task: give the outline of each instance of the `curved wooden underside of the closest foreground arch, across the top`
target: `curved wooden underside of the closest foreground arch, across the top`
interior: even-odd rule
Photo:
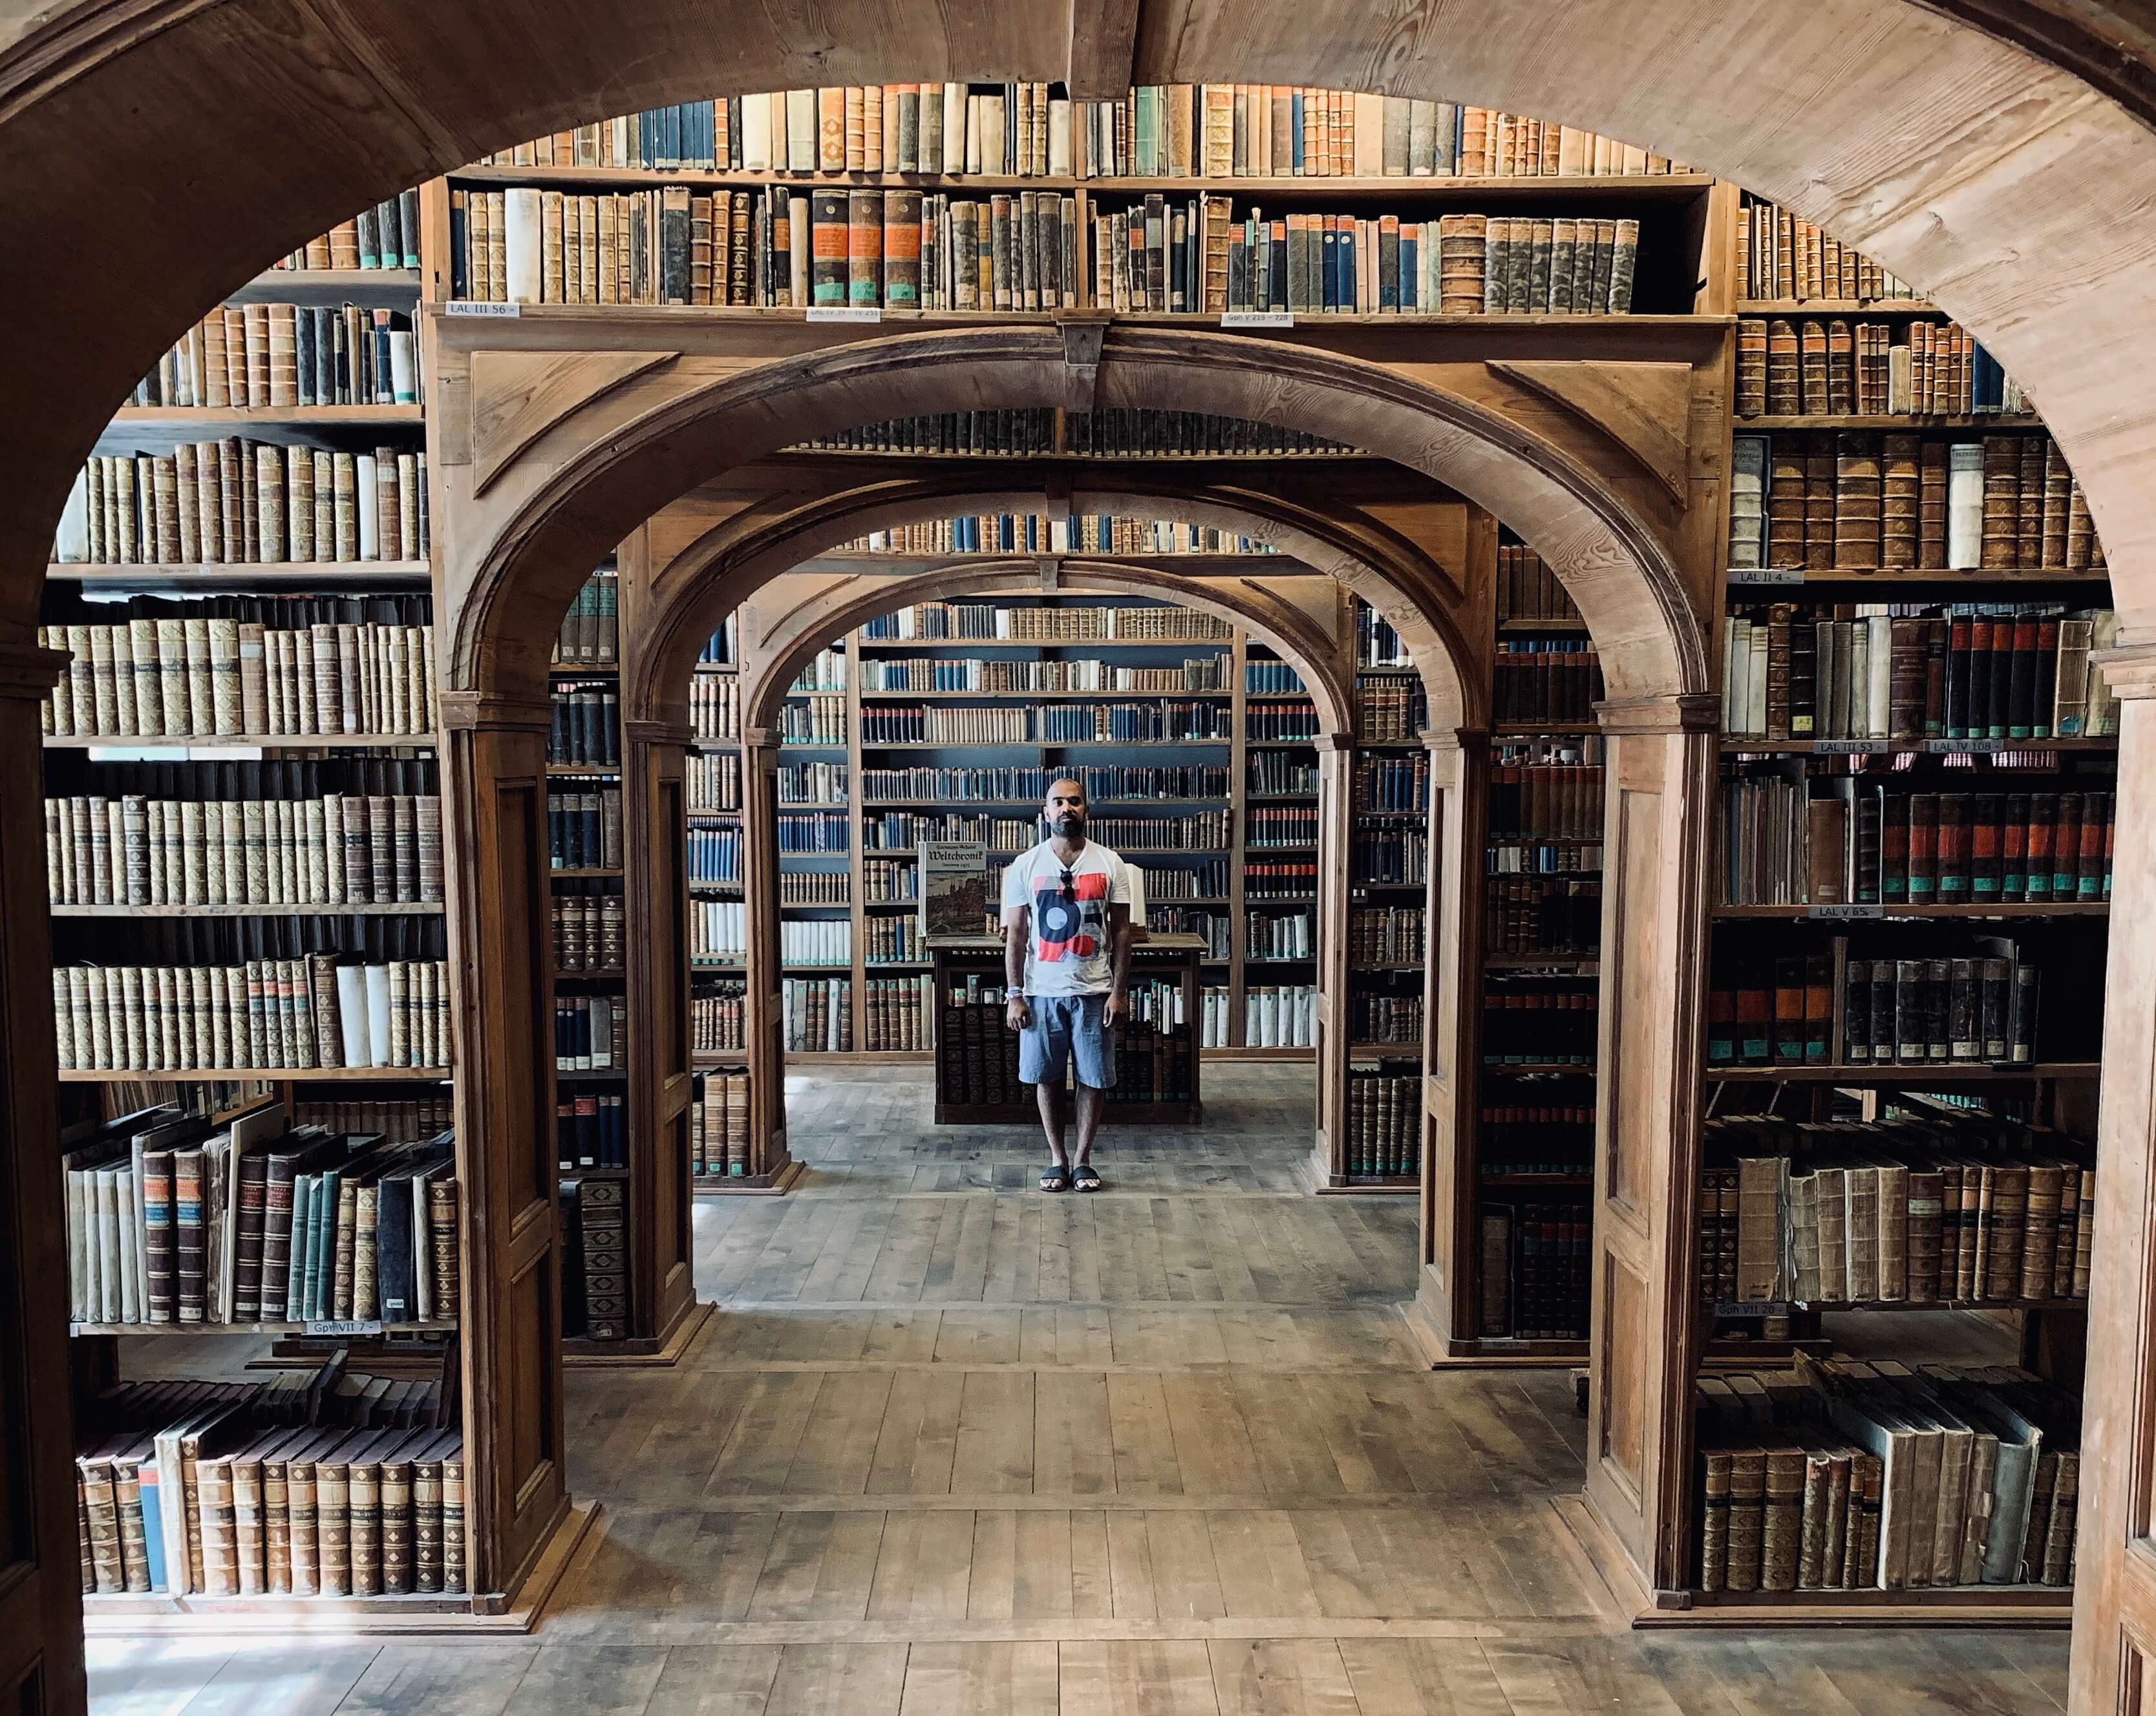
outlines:
[[[65,487],[134,377],[354,207],[711,91],[1031,75],[1485,101],[1787,203],[2014,371],[2089,492],[2139,632],[2156,621],[2147,47],[2143,4],[2093,0],[32,0],[0,22],[0,604],[28,621]]]

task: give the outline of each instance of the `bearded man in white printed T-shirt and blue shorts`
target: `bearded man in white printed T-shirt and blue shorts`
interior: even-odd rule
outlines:
[[[1130,1011],[1130,867],[1084,836],[1084,785],[1048,783],[1052,830],[1003,873],[1005,1022],[1024,1033],[1018,1076],[1037,1091],[1048,1134],[1044,1192],[1100,1190],[1093,1134],[1115,1084],[1115,1028]],[[1063,1067],[1078,1063],[1078,1145],[1063,1151]]]

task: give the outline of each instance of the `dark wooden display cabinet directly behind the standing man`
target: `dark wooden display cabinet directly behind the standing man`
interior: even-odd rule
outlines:
[[[1033,1089],[1018,1082],[1018,1033],[1003,1022],[1003,938],[929,936],[936,959],[936,1123],[1024,1125],[1039,1115]],[[1197,1125],[1199,959],[1203,936],[1138,931],[1130,953],[1132,987],[1169,979],[1181,990],[1179,1026],[1125,1024],[1117,1039],[1117,1084],[1106,1121],[1117,1125]],[[994,1000],[953,1000],[972,983]]]

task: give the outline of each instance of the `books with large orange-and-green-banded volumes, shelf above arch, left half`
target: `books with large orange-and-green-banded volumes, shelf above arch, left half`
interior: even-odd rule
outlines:
[[[1076,308],[1078,205],[903,185],[453,190],[451,287],[496,304]]]

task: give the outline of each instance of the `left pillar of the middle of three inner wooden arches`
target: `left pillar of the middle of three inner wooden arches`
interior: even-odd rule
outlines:
[[[664,1341],[696,1302],[690,1242],[686,722],[621,722],[630,1000],[630,1332]]]

